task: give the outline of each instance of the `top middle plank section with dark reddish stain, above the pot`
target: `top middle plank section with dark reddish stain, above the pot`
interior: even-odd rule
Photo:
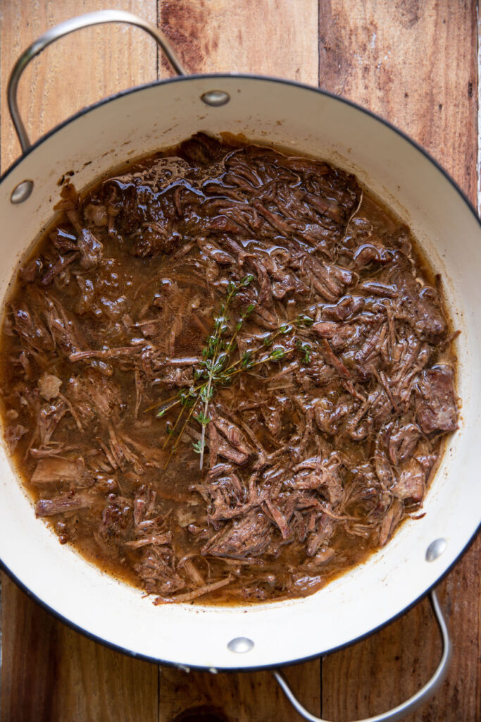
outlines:
[[[190,72],[256,73],[317,85],[317,0],[159,0],[159,27]]]

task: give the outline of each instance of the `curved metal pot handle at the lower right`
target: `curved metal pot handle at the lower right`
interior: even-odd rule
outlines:
[[[394,720],[402,719],[408,712],[412,712],[412,710],[425,702],[428,697],[431,697],[431,695],[433,695],[433,693],[438,689],[441,682],[443,682],[444,677],[446,677],[446,672],[449,667],[449,659],[451,658],[451,640],[449,639],[446,620],[443,617],[443,613],[441,612],[441,607],[439,606],[438,598],[434,590],[431,591],[430,599],[433,606],[433,612],[436,615],[439,629],[441,630],[441,636],[443,638],[443,654],[433,677],[431,677],[429,682],[427,682],[424,687],[421,687],[415,695],[412,695],[409,700],[406,700],[402,704],[397,705],[397,707],[394,707],[392,710],[384,712],[381,715],[369,717],[364,720],[358,720],[358,722],[387,722],[388,720],[389,722],[394,722]],[[312,715],[301,705],[301,703],[299,703],[280,672],[273,671],[272,674],[275,679],[277,679],[278,684],[281,686],[282,691],[288,698],[291,705],[301,715],[301,717],[304,717],[304,719],[309,722],[327,722],[327,720]]]

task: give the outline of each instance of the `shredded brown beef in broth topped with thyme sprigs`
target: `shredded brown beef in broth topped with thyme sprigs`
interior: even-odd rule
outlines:
[[[243,603],[316,591],[419,513],[454,334],[353,175],[198,134],[58,209],[7,300],[1,405],[62,544],[159,603]]]

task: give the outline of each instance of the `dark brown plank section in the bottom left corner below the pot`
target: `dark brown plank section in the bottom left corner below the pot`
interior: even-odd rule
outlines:
[[[1,719],[156,722],[157,668],[58,622],[2,575]]]

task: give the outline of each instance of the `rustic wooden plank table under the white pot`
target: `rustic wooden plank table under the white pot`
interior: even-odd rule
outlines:
[[[48,27],[102,6],[158,22],[190,71],[277,75],[356,100],[423,144],[476,202],[475,0],[1,0],[2,170],[19,155],[4,101],[14,60]],[[140,30],[83,30],[35,60],[19,105],[35,139],[83,105],[168,73]],[[454,656],[411,722],[481,720],[480,559],[478,536],[440,585]],[[1,638],[4,722],[170,722],[198,706],[229,722],[300,719],[268,673],[186,674],[122,656],[57,622],[5,576]],[[353,720],[415,692],[439,653],[423,601],[378,635],[286,677],[313,713]]]

